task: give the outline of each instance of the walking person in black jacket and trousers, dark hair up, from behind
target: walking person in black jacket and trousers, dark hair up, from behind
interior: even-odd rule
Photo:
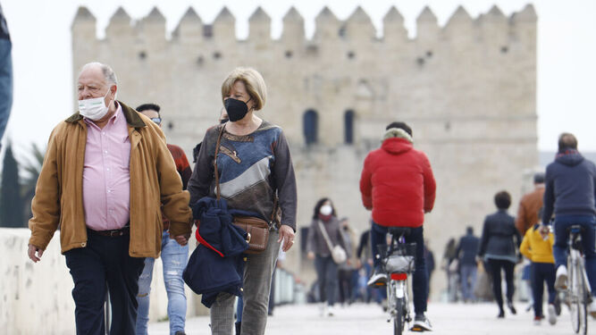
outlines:
[[[517,249],[521,244],[516,220],[507,213],[511,205],[511,196],[507,191],[500,191],[494,197],[498,211],[484,219],[483,238],[480,242],[478,256],[483,257],[492,273],[492,293],[499,305],[499,318],[505,317],[503,310],[503,296],[500,289],[500,272],[505,271],[507,281],[507,306],[511,314],[516,314],[513,306],[513,270],[517,262]]]

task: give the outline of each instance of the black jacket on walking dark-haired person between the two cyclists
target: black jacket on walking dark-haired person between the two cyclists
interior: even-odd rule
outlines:
[[[515,262],[516,250],[521,241],[514,217],[505,210],[499,210],[484,219],[483,238],[478,255]]]

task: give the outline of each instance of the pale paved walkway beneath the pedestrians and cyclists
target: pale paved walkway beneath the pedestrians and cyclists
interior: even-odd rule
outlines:
[[[517,309],[525,304],[518,303]],[[433,334],[441,335],[564,335],[573,334],[567,307],[551,326],[543,320],[540,326],[533,324],[533,312],[518,311],[516,315],[496,318],[497,307],[492,304],[430,304],[429,317],[434,327]],[[588,333],[596,334],[596,321],[590,319]],[[209,334],[209,317],[195,317],[187,321],[187,334]],[[357,304],[337,308],[336,316],[322,318],[314,305],[280,306],[267,322],[267,334],[279,335],[351,335],[392,334],[391,323],[386,320],[382,309],[375,305]],[[408,334],[415,334],[407,331]],[[149,325],[149,334],[168,334],[168,323]]]

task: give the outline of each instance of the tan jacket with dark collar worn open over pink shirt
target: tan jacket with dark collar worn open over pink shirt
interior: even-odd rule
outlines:
[[[157,257],[162,246],[160,204],[170,219],[172,236],[190,232],[189,192],[162,130],[145,115],[122,104],[130,138],[130,246],[133,257]],[[60,226],[62,253],[87,246],[83,209],[83,163],[87,124],[79,113],[58,124],[50,135],[46,157],[31,203],[29,244],[46,249]]]

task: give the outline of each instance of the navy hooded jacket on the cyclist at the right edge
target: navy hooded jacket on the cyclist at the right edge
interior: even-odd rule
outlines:
[[[596,166],[577,150],[559,153],[546,168],[544,212],[542,222],[548,224],[556,215],[594,215]]]

